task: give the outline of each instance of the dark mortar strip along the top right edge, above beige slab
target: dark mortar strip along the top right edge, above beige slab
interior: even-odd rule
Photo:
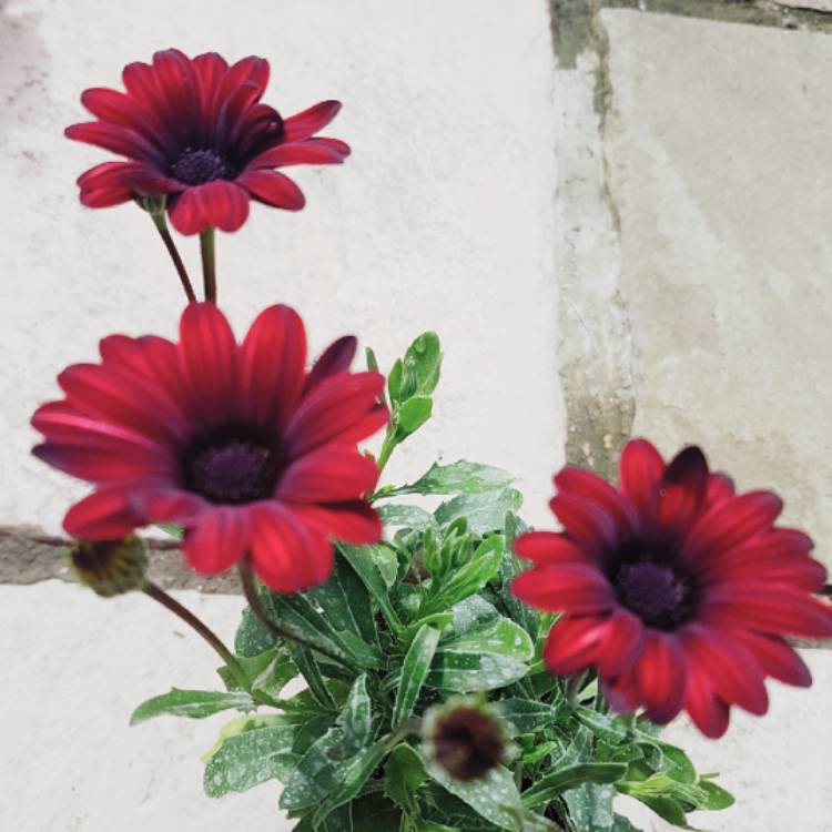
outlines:
[[[750,23],[777,29],[832,32],[832,11],[775,0],[599,0],[605,9],[702,18],[722,23]]]

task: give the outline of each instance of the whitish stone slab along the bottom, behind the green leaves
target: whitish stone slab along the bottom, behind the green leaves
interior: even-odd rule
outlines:
[[[176,597],[226,640],[242,600],[184,590]],[[130,728],[133,708],[173,684],[214,687],[213,653],[166,610],[141,595],[100,600],[60,581],[0,586],[0,829],[14,832],[221,832],[290,830],[277,812],[277,784],[210,800],[200,755],[223,714],[203,721],[160,718]],[[694,825],[713,832],[801,832],[832,829],[825,804],[829,767],[811,749],[829,748],[826,691],[832,652],[803,652],[810,691],[771,684],[770,713],[735,713],[719,742],[683,722],[667,731],[700,771],[720,771],[738,804],[704,813]],[[646,832],[668,832],[631,801],[621,809]],[[379,832],[388,832],[379,830]]]

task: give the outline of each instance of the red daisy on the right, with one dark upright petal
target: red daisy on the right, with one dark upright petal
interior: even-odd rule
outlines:
[[[783,637],[832,636],[832,610],[811,597],[826,572],[809,537],[774,526],[780,498],[734,494],[696,447],[666,466],[643,439],[627,444],[620,478],[618,490],[564,468],[550,503],[564,531],[515,542],[535,566],[514,593],[564,613],[549,670],[595,667],[616,710],[663,723],[684,709],[708,737],[726,731],[732,704],[767,711],[767,676],[811,684]]]

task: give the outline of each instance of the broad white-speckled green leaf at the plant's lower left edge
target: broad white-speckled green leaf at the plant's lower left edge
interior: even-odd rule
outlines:
[[[243,792],[276,778],[285,780],[298,762],[292,753],[293,726],[257,728],[229,737],[205,767],[209,798]]]

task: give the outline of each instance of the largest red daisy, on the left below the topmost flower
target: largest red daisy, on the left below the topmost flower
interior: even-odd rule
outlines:
[[[352,336],[310,372],[306,335],[287,306],[265,310],[237,345],[213,304],[191,304],[177,344],[112,335],[101,364],[58,377],[61,402],[32,419],[35,456],[95,486],[64,528],[91,540],[151,522],[185,527],[183,550],[200,572],[251,554],[272,589],[322,584],[329,538],[378,540],[363,496],[378,478],[356,447],[387,422],[384,379],[349,373]]]

